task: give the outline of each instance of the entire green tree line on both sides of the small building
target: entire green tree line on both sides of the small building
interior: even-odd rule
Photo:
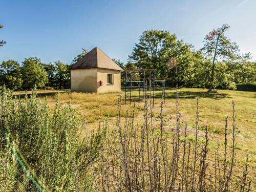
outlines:
[[[167,86],[235,90],[237,83],[256,81],[256,62],[250,61],[250,54],[242,54],[236,42],[225,36],[228,29],[228,25],[223,25],[209,32],[199,50],[169,31],[145,30],[126,63],[113,60],[125,70],[156,69],[156,77],[165,77]],[[37,57],[25,58],[21,65],[12,59],[3,61],[0,86],[29,90],[36,84],[38,88],[69,89],[69,69],[87,53],[82,49],[70,64],[42,63]],[[134,77],[142,78],[142,74]],[[124,79],[123,73],[122,83]]]

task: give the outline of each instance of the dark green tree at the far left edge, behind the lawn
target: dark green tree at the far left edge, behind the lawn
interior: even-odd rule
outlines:
[[[0,65],[0,86],[5,84],[6,88],[15,91],[22,88],[22,82],[19,63],[11,59],[3,61]]]

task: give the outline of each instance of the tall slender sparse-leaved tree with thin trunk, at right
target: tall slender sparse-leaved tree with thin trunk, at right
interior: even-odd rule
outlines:
[[[220,79],[216,76],[216,63],[219,61],[233,62],[242,57],[242,55],[239,54],[238,45],[235,42],[231,42],[224,34],[229,28],[230,27],[225,24],[222,25],[221,28],[212,30],[205,36],[202,51],[205,57],[211,60],[210,77],[207,82],[209,91],[220,86]]]

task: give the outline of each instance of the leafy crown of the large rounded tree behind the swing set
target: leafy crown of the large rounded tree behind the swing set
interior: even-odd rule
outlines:
[[[179,58],[189,51],[190,46],[182,40],[177,40],[175,34],[163,30],[146,30],[135,44],[130,61],[135,63],[138,69],[156,69],[158,77],[168,76],[170,67],[167,65],[170,58]]]

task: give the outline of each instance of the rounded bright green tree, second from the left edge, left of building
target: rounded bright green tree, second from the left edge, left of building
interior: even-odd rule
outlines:
[[[25,58],[22,67],[23,89],[29,90],[35,85],[38,88],[45,87],[48,82],[46,70],[37,57]]]

